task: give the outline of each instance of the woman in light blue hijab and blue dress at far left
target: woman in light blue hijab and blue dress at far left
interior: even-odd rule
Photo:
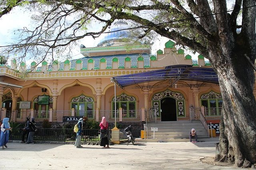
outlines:
[[[9,124],[9,118],[4,118],[1,125],[1,135],[0,135],[0,146],[4,149],[4,146],[7,148],[7,143],[9,141],[9,131],[12,129]]]

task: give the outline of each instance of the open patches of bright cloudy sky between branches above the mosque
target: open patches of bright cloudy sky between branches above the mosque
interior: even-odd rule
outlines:
[[[17,35],[14,34],[14,30],[16,29],[22,29],[23,27],[29,27],[30,25],[30,17],[31,13],[19,9],[17,7],[16,9],[12,10],[9,14],[6,14],[0,18],[0,46],[10,45],[10,43],[14,43],[17,39]],[[92,27],[89,27],[90,29],[95,29],[95,25]],[[104,37],[102,35],[101,37]],[[72,51],[72,59],[79,59],[84,57],[82,54],[80,54],[80,44],[83,44],[85,47],[96,47],[96,45],[100,42],[100,37],[93,39],[91,36],[87,36],[84,39],[81,39],[78,42],[78,46],[75,47]],[[155,43],[152,45],[152,54],[156,55],[156,51],[158,49],[164,50],[164,44],[168,41],[166,37],[158,37],[158,40],[155,41]],[[198,54],[193,55],[191,53],[188,53],[192,56],[192,59],[197,59]],[[185,51],[186,55],[186,51]],[[27,65],[30,65],[33,61],[26,61]],[[10,65],[10,60],[8,61],[8,64]]]

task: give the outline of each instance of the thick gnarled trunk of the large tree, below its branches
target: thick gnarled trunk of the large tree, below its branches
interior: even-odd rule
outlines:
[[[246,168],[256,163],[256,102],[254,70],[242,54],[234,52],[230,63],[213,63],[223,98],[220,154],[215,160]]]

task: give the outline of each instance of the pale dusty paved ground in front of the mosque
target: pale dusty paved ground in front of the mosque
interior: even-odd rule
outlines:
[[[136,143],[111,145],[22,144],[8,143],[0,149],[1,170],[170,170],[235,169],[202,163],[214,157],[214,142]],[[239,168],[241,169],[241,168]]]

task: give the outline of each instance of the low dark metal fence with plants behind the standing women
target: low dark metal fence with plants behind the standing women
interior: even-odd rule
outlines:
[[[111,132],[109,133],[110,140]],[[13,128],[10,131],[10,140],[22,139],[22,128]],[[38,128],[34,135],[35,141],[75,141],[76,133],[73,129],[46,129]],[[83,129],[82,141],[100,141],[99,129]]]

